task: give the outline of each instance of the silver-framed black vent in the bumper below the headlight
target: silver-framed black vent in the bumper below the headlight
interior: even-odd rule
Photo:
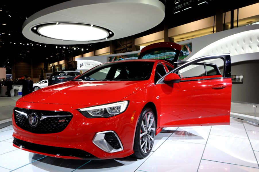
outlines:
[[[93,139],[94,145],[105,152],[113,153],[123,150],[118,135],[114,131],[103,131],[96,133]]]

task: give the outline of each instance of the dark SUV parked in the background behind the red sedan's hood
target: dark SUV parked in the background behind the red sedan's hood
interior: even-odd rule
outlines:
[[[49,77],[49,86],[61,82],[71,81],[80,75],[79,71],[56,71]]]

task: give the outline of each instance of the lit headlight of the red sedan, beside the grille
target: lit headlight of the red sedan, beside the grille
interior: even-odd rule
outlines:
[[[122,101],[89,108],[78,109],[87,118],[109,118],[121,114],[127,109],[129,101]]]

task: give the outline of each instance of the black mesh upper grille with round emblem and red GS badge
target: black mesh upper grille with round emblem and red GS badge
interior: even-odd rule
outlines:
[[[58,133],[63,131],[73,115],[70,112],[32,110],[24,108],[13,109],[17,126],[37,134]]]

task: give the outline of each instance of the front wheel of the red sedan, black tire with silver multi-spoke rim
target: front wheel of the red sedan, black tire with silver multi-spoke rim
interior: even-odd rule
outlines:
[[[156,134],[156,119],[151,108],[144,108],[138,118],[136,134],[134,139],[134,154],[138,159],[149,155],[154,145]]]

